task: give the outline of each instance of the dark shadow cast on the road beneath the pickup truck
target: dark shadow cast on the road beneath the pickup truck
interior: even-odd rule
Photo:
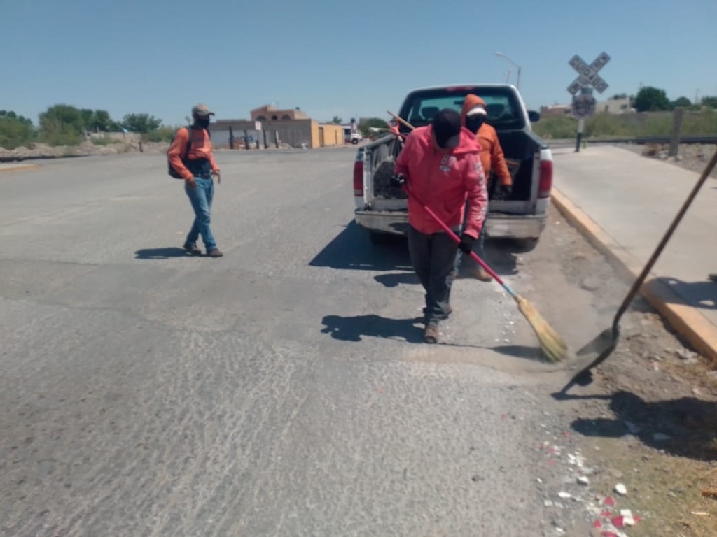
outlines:
[[[485,262],[500,276],[518,274],[519,254],[524,251],[518,241],[489,239],[485,241]],[[396,287],[399,284],[418,284],[404,237],[391,237],[384,244],[374,244],[368,233],[349,222],[333,240],[309,262],[309,266],[330,267],[354,271],[404,271],[403,274],[374,276],[379,284]],[[460,277],[467,277],[472,259],[461,262]]]

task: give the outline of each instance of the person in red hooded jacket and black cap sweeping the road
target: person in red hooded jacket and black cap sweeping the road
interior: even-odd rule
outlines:
[[[407,136],[394,167],[394,184],[407,185],[417,198],[408,200],[408,246],[426,291],[427,343],[438,341],[438,324],[452,311],[450,288],[457,250],[470,253],[483,227],[488,193],[478,152],[478,142],[461,126],[460,114],[445,109],[435,115],[431,125],[417,127]],[[456,233],[461,233],[465,216],[460,244],[443,231],[423,204]]]

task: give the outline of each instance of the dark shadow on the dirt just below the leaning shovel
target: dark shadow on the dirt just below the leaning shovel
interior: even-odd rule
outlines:
[[[631,392],[612,396],[566,396],[609,399],[614,418],[574,420],[571,428],[589,437],[633,435],[655,450],[694,460],[717,458],[717,402],[695,397],[647,402]]]

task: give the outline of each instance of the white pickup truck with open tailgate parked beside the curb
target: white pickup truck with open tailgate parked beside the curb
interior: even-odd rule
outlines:
[[[489,178],[490,199],[485,233],[489,238],[514,238],[526,249],[538,242],[546,225],[546,210],[553,183],[553,157],[531,122],[538,112],[528,112],[516,87],[510,84],[460,84],[427,87],[409,92],[398,115],[414,127],[429,125],[443,108],[460,112],[468,94],[481,97],[488,110],[488,123],[498,132],[505,160],[513,176],[509,199],[494,198],[495,178]],[[399,123],[399,131],[409,128]],[[354,218],[369,232],[371,241],[383,243],[391,235],[404,235],[408,229],[405,193],[391,187],[392,160],[401,150],[394,135],[381,137],[356,152],[353,165]]]

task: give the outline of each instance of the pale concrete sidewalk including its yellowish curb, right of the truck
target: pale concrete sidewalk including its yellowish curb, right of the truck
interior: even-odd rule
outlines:
[[[613,146],[580,153],[556,148],[554,158],[553,203],[630,281],[700,176]],[[678,334],[717,364],[717,283],[708,279],[717,273],[715,233],[717,180],[708,178],[641,292]]]

